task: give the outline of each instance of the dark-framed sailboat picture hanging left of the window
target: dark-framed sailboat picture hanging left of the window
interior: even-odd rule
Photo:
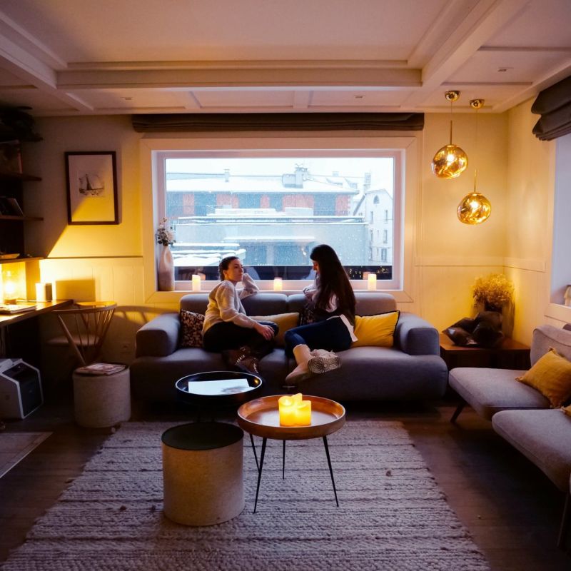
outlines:
[[[66,153],[69,224],[118,224],[115,151]]]

